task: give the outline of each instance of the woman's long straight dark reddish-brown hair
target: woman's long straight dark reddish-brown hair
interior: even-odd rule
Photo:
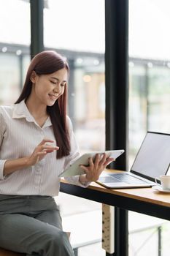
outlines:
[[[31,94],[32,82],[30,78],[33,71],[37,75],[47,75],[63,68],[66,68],[69,74],[69,64],[66,58],[55,51],[45,50],[36,54],[28,67],[23,90],[15,104],[20,103],[23,99],[28,99]],[[47,113],[53,125],[55,140],[57,146],[59,146],[57,158],[68,156],[70,153],[69,132],[66,124],[66,101],[67,88],[65,87],[64,93],[55,101],[55,104],[53,106],[47,106]]]

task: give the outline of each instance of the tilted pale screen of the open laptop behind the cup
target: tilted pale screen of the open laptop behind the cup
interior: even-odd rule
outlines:
[[[170,165],[170,135],[147,132],[131,172],[154,181],[165,175]]]

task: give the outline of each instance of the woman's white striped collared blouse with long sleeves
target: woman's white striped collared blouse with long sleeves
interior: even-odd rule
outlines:
[[[60,178],[58,175],[78,157],[77,142],[68,117],[71,136],[71,153],[56,159],[56,151],[47,154],[36,165],[16,170],[4,176],[4,163],[7,159],[30,156],[34,148],[43,140],[55,140],[50,118],[39,127],[24,100],[19,104],[0,106],[0,194],[2,195],[58,195]],[[79,176],[66,178],[73,184],[81,184]]]

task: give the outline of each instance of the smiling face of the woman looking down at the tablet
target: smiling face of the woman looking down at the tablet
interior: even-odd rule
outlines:
[[[31,75],[32,91],[34,100],[42,105],[52,106],[55,101],[61,97],[68,80],[68,72],[66,68],[60,69],[48,75]]]

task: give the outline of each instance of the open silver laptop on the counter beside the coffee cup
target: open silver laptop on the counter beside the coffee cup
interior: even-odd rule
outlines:
[[[170,134],[147,132],[130,171],[101,173],[98,184],[109,189],[152,187],[170,167]]]

